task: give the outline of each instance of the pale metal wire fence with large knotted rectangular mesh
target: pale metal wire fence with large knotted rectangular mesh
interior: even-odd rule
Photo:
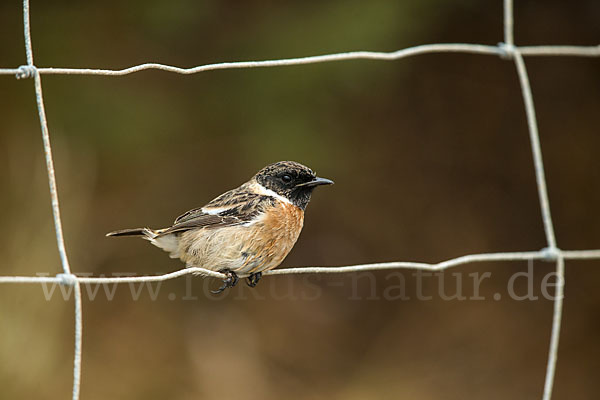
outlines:
[[[54,218],[54,228],[56,231],[56,241],[63,271],[54,277],[42,276],[0,276],[0,283],[57,283],[61,285],[74,287],[75,298],[75,345],[73,359],[73,400],[79,399],[81,386],[81,355],[82,355],[82,306],[81,306],[81,284],[86,283],[126,283],[126,282],[157,282],[169,279],[175,279],[188,274],[200,273],[204,276],[224,279],[225,275],[219,272],[210,271],[204,268],[194,267],[185,268],[175,272],[156,276],[130,276],[130,277],[82,277],[71,272],[69,260],[65,249],[65,242],[62,232],[62,221],[60,217],[60,206],[58,202],[58,193],[56,188],[56,177],[54,174],[54,161],[52,157],[52,146],[50,143],[50,133],[46,120],[46,111],[42,95],[42,75],[105,75],[120,76],[136,73],[148,69],[156,69],[178,74],[195,74],[218,69],[241,69],[241,68],[265,68],[281,67],[289,65],[316,64],[333,61],[345,60],[382,60],[393,61],[406,57],[411,57],[426,53],[474,53],[482,55],[494,55],[503,59],[512,60],[519,77],[519,83],[523,96],[523,102],[527,115],[527,125],[531,150],[533,153],[533,162],[537,183],[537,191],[541,209],[541,216],[544,225],[547,247],[538,251],[527,252],[505,252],[505,253],[485,253],[470,254],[458,258],[453,258],[436,264],[421,262],[387,262],[377,264],[360,264],[343,267],[305,267],[305,268],[287,268],[267,271],[263,275],[286,275],[286,274],[328,274],[328,273],[347,273],[358,271],[374,271],[386,269],[420,269],[440,271],[447,268],[456,267],[463,264],[489,262],[489,261],[517,261],[517,260],[546,260],[556,264],[556,293],[554,296],[554,311],[552,318],[552,332],[550,337],[550,347],[548,351],[548,361],[546,365],[546,377],[544,383],[543,400],[550,400],[552,396],[552,386],[554,383],[554,373],[557,362],[558,342],[560,336],[560,325],[562,317],[563,293],[564,293],[564,271],[565,260],[577,259],[600,259],[600,249],[594,250],[561,250],[557,244],[554,235],[552,216],[550,214],[550,204],[548,201],[548,192],[546,189],[546,178],[544,173],[544,163],[540,147],[540,139],[535,115],[535,107],[529,76],[523,56],[577,56],[577,57],[600,57],[600,45],[598,46],[516,46],[513,36],[513,1],[504,0],[504,41],[497,46],[487,46],[479,44],[451,43],[451,44],[429,44],[401,49],[394,52],[373,52],[356,51],[336,54],[326,54],[301,58],[289,58],[280,60],[266,61],[244,61],[244,62],[226,62],[217,64],[201,65],[193,68],[178,68],[170,65],[147,63],[133,67],[110,70],[110,69],[89,69],[89,68],[41,68],[37,67],[33,59],[33,50],[31,44],[30,32],[30,8],[29,0],[23,1],[23,25],[25,35],[25,54],[27,64],[18,68],[0,68],[0,75],[14,75],[17,79],[33,78],[35,86],[35,96],[42,130],[42,140],[44,144],[44,153],[46,158],[46,169],[48,172],[48,183],[50,186],[50,195],[52,202],[52,213]]]

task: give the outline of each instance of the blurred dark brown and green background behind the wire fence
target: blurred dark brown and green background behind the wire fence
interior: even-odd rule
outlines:
[[[496,44],[502,2],[33,1],[38,66],[182,67],[436,42]],[[600,3],[519,1],[518,44],[595,45]],[[0,65],[25,63],[20,1],[0,4]],[[527,58],[559,246],[600,247],[600,59]],[[336,181],[318,190],[283,266],[411,260],[545,246],[511,61],[465,54],[181,76],[44,76],[67,249],[76,273],[181,267],[110,230],[160,227],[278,160]],[[1,275],[60,271],[33,83],[0,77]],[[555,399],[600,391],[600,263],[568,262]],[[554,266],[535,263],[534,287]],[[541,398],[552,302],[383,298],[389,272],[269,277],[215,298],[177,279],[137,301],[84,290],[82,399]],[[397,277],[397,275],[396,275]],[[394,278],[396,279],[396,278]],[[400,279],[400,278],[397,278]],[[394,283],[395,282],[395,283]],[[519,280],[517,289],[526,290]],[[155,287],[155,286],[154,286]],[[109,288],[110,289],[110,288]],[[58,289],[57,289],[58,290]],[[374,290],[374,293],[371,292]],[[191,293],[190,293],[191,291]],[[492,295],[503,294],[500,301]],[[191,296],[196,296],[193,299]],[[375,299],[377,297],[378,299]],[[71,390],[73,304],[0,287],[0,398]]]

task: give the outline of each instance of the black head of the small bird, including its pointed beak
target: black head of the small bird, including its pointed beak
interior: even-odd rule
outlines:
[[[315,187],[333,183],[329,179],[319,178],[313,170],[294,161],[267,165],[258,171],[255,178],[263,187],[289,199],[303,210]]]

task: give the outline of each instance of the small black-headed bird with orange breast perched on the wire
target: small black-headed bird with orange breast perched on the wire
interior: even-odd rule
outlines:
[[[227,278],[213,293],[235,286],[237,274],[249,274],[248,286],[254,287],[262,272],[281,264],[296,243],[315,187],[332,183],[300,163],[280,161],[180,215],[169,228],[123,229],[106,236],[141,236],[187,267],[224,273]]]

